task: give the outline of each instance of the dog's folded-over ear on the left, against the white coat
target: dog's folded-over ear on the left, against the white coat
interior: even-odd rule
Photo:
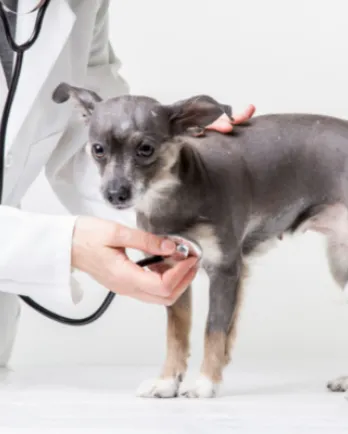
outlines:
[[[73,98],[82,117],[88,121],[95,105],[102,101],[102,98],[95,92],[80,87],[70,86],[67,83],[60,83],[52,94],[52,99],[57,104],[62,104]]]

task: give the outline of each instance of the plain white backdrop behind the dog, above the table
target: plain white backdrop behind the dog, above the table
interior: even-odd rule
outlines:
[[[252,102],[259,114],[348,117],[346,0],[110,3],[112,44],[133,93],[163,102],[208,93],[236,111]],[[25,205],[62,211],[42,178]],[[86,279],[85,287],[78,308],[55,308],[76,316],[90,312],[104,290]],[[207,312],[203,274],[194,297],[192,358],[198,363]],[[283,241],[258,261],[239,330],[237,363],[332,360],[348,371],[348,305],[328,274],[319,236]],[[98,323],[77,329],[24,309],[13,363],[158,364],[164,336],[162,308],[125,298]]]

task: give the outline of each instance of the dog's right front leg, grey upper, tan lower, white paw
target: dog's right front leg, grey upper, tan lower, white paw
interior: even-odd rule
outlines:
[[[200,377],[192,389],[181,390],[187,398],[213,398],[222,380],[224,367],[236,334],[241,304],[244,269],[241,261],[230,267],[208,270],[210,306],[205,332],[204,360]]]

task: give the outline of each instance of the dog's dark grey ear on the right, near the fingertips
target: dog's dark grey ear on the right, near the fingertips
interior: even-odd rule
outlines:
[[[207,95],[198,95],[165,107],[174,135],[182,134],[189,129],[204,129],[224,113],[232,119],[231,106],[221,104]]]

